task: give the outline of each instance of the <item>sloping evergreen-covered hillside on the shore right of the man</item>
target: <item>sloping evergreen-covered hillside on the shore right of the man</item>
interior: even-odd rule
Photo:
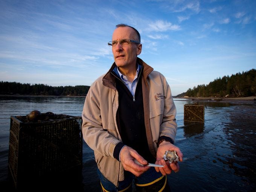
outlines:
[[[256,95],[256,69],[217,78],[208,85],[197,85],[176,97],[248,97]]]

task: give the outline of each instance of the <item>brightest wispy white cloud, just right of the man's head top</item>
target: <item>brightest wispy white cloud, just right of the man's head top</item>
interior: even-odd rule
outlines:
[[[167,21],[158,20],[149,24],[149,31],[167,31],[167,30],[180,30],[179,25],[172,24]]]

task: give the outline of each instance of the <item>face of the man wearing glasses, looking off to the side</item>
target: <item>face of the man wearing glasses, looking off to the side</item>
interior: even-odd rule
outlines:
[[[137,41],[136,32],[131,27],[118,27],[114,30],[112,41],[121,39],[131,39]],[[141,53],[142,44],[130,43],[128,45],[120,45],[112,47],[114,60],[117,67],[133,67],[136,66],[137,55]]]

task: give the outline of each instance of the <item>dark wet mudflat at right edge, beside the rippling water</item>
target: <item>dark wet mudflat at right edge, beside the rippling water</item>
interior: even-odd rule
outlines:
[[[224,131],[234,143],[233,157],[226,158],[230,168],[233,168],[235,175],[248,179],[248,184],[255,188],[256,184],[256,106],[241,105],[230,113],[231,122],[228,123]],[[239,165],[239,166],[238,166]]]

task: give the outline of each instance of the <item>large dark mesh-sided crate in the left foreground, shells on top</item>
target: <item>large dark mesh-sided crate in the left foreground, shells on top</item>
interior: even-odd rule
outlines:
[[[81,171],[81,123],[81,117],[67,115],[65,119],[36,123],[11,116],[8,165],[15,188],[27,189],[53,179],[53,175]]]

